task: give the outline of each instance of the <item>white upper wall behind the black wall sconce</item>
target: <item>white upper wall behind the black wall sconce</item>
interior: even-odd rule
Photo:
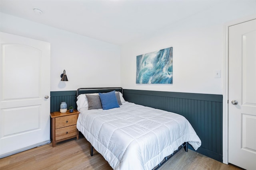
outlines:
[[[0,21],[2,32],[51,43],[51,91],[120,86],[119,46],[4,13]]]

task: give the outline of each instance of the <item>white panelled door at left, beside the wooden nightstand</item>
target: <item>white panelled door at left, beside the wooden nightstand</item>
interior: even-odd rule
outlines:
[[[50,43],[0,32],[0,158],[50,142]]]

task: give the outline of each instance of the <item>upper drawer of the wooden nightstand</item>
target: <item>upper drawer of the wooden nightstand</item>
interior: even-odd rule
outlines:
[[[77,115],[69,115],[55,118],[55,129],[76,125]]]

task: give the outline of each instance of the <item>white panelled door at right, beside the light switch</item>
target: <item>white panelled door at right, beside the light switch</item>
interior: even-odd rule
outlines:
[[[256,19],[229,27],[228,162],[256,170]]]

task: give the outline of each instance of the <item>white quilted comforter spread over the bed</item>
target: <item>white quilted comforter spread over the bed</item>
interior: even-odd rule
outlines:
[[[151,170],[184,142],[201,146],[188,120],[176,113],[129,102],[80,112],[77,129],[114,170]]]

